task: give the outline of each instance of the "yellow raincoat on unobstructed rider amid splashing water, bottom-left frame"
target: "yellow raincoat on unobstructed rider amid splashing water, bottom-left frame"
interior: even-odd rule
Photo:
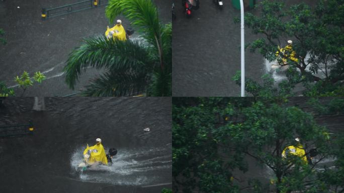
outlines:
[[[83,151],[83,155],[85,154],[90,154],[90,158],[85,160],[89,165],[92,165],[95,162],[102,162],[103,164],[108,165],[105,149],[101,143],[91,147],[89,147],[89,144],[87,144],[87,148]]]

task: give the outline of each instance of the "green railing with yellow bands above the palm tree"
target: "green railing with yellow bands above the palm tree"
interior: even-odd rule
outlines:
[[[43,8],[42,18],[48,19],[48,18],[53,18],[57,16],[63,16],[63,15],[74,13],[74,12],[97,8],[99,6],[104,6],[107,4],[108,4],[108,0],[85,0],[82,2],[60,6],[57,8],[51,8],[51,9]]]

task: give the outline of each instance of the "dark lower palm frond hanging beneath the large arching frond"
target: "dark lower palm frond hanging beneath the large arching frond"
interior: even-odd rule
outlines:
[[[148,75],[146,72],[112,73],[107,72],[85,86],[81,95],[85,96],[128,96],[145,90]]]

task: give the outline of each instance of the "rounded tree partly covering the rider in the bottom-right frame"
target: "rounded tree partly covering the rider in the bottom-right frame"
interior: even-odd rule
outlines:
[[[267,165],[275,173],[276,179],[272,181],[276,183],[277,192],[307,190],[309,180],[316,174],[312,171],[316,163],[305,164],[299,156],[283,158],[282,151],[290,145],[298,146],[294,139],[300,137],[304,147],[316,148],[321,154],[319,160],[324,159],[329,145],[325,128],[296,107],[256,102],[241,113],[243,122],[229,122],[218,129],[214,138],[226,146],[230,142],[235,151]]]

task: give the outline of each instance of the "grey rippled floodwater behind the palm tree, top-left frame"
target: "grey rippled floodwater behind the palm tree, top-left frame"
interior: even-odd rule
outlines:
[[[41,19],[42,8],[56,8],[81,0],[38,0],[38,1],[0,1],[0,28],[5,30],[7,45],[0,45],[0,80],[13,86],[20,96],[22,90],[16,86],[14,77],[29,72],[40,71],[47,77],[41,84],[34,84],[25,96],[64,96],[79,92],[102,70],[89,68],[81,74],[80,83],[71,90],[65,83],[62,72],[68,54],[82,43],[83,38],[103,35],[109,24],[105,17],[105,6]],[[106,0],[102,1],[107,2]],[[163,23],[171,21],[169,1],[154,1]],[[123,26],[130,23],[123,16]],[[133,37],[139,34],[135,32]]]

